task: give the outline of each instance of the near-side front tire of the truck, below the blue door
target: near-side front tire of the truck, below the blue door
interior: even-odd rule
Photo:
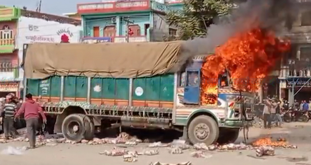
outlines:
[[[205,143],[211,145],[216,142],[218,136],[219,128],[212,117],[205,115],[195,117],[188,126],[188,137],[192,144]]]

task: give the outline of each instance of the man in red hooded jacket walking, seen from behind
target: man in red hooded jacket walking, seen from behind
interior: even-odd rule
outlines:
[[[35,148],[36,130],[39,125],[39,113],[42,116],[43,122],[45,124],[46,117],[39,103],[32,99],[32,94],[26,94],[26,102],[21,105],[21,108],[17,111],[15,118],[19,117],[22,113],[25,115],[30,148]]]

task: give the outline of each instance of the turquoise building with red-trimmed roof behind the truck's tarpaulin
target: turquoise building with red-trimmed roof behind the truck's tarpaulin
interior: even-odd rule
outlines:
[[[162,41],[170,29],[165,13],[173,3],[155,0],[103,1],[78,4],[85,42]],[[178,3],[176,3],[178,4]],[[179,5],[179,7],[182,5]],[[172,32],[173,31],[173,32]]]

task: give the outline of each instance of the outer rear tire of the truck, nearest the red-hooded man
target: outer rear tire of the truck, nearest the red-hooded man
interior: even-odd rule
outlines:
[[[85,133],[84,116],[81,114],[71,114],[65,117],[62,124],[62,132],[68,140],[81,141]]]

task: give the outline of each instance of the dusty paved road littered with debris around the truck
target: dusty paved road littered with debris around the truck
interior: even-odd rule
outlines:
[[[211,155],[210,158],[192,158],[190,153],[186,151],[183,154],[172,155],[168,153],[168,149],[160,148],[160,154],[154,156],[139,156],[138,161],[132,164],[149,165],[151,162],[160,161],[161,163],[182,163],[191,161],[193,165],[219,165],[239,163],[240,165],[262,165],[268,164],[282,164],[293,165],[306,163],[311,164],[311,161],[290,162],[287,157],[311,157],[311,123],[290,123],[286,124],[284,128],[274,128],[272,130],[262,130],[259,128],[252,128],[250,130],[249,141],[263,136],[284,137],[290,143],[297,144],[298,149],[276,149],[276,156],[264,157],[264,159],[253,158],[255,151],[229,151],[217,152],[212,151],[206,153]],[[241,141],[242,136],[238,141]],[[0,144],[0,151],[8,146],[21,147],[27,145],[26,142],[11,142],[7,144]],[[125,165],[128,162],[123,162],[121,157],[109,157],[98,154],[103,150],[109,150],[114,147],[113,144],[104,145],[86,145],[86,144],[58,144],[56,146],[45,146],[34,150],[28,150],[23,155],[0,155],[1,164],[8,165],[109,165],[118,164]],[[147,148],[147,144],[140,144],[128,150],[142,151]],[[250,156],[249,156],[250,155]],[[297,164],[297,165],[298,165]]]

